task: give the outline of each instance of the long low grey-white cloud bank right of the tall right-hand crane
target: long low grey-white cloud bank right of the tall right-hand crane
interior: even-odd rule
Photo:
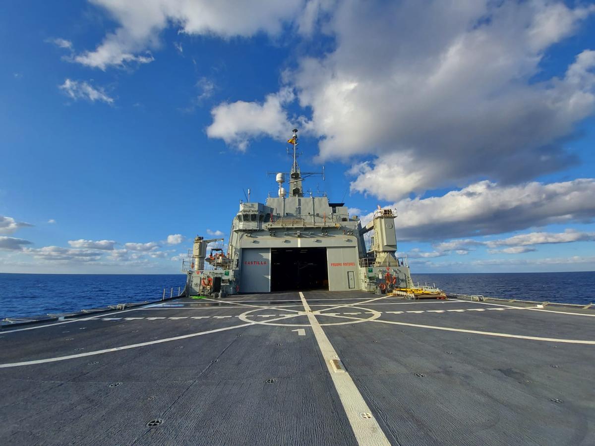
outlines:
[[[515,186],[480,181],[441,197],[403,199],[387,208],[398,211],[399,240],[432,241],[508,233],[553,223],[590,222],[595,217],[594,196],[593,178]],[[372,213],[362,220],[371,218]]]

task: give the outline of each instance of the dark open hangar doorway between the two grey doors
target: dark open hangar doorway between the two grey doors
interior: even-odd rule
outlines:
[[[326,248],[271,249],[271,291],[328,290]]]

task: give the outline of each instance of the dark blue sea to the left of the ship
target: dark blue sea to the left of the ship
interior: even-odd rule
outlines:
[[[0,273],[0,319],[158,300],[185,283],[184,274]]]

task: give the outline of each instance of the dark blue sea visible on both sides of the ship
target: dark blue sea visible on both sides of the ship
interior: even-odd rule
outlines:
[[[588,304],[595,301],[595,272],[412,274],[446,293]],[[2,274],[0,319],[70,312],[117,303],[158,300],[184,289],[186,275]]]

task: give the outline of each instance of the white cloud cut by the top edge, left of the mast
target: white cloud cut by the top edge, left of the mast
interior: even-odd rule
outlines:
[[[185,34],[230,38],[264,32],[275,36],[281,32],[283,22],[290,21],[302,8],[302,0],[93,2],[120,27],[107,34],[95,50],[75,56],[74,61],[100,70],[153,61],[148,51],[159,48],[159,33],[170,25]]]

